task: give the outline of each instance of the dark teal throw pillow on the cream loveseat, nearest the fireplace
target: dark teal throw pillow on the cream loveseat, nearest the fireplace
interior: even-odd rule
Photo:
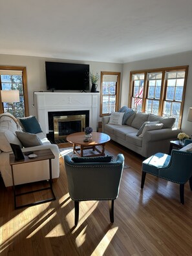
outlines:
[[[23,130],[27,133],[41,133],[41,127],[36,116],[28,116],[26,118],[17,118]]]

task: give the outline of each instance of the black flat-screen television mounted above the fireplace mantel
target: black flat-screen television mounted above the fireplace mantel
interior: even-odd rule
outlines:
[[[89,65],[45,62],[47,90],[89,91]]]

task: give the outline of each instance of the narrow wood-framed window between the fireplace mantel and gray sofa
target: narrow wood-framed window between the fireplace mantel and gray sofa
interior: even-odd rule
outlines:
[[[120,72],[101,72],[100,116],[117,111],[120,98]]]

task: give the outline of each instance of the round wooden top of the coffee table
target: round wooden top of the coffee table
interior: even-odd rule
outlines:
[[[83,142],[85,139],[85,133],[72,133],[67,136],[67,141],[72,144],[91,146],[91,145],[102,145],[111,140],[110,136],[105,133],[92,132],[92,138],[89,142]]]

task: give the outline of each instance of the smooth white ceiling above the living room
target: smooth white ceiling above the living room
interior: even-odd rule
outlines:
[[[0,54],[125,63],[192,50],[192,0],[1,0]]]

